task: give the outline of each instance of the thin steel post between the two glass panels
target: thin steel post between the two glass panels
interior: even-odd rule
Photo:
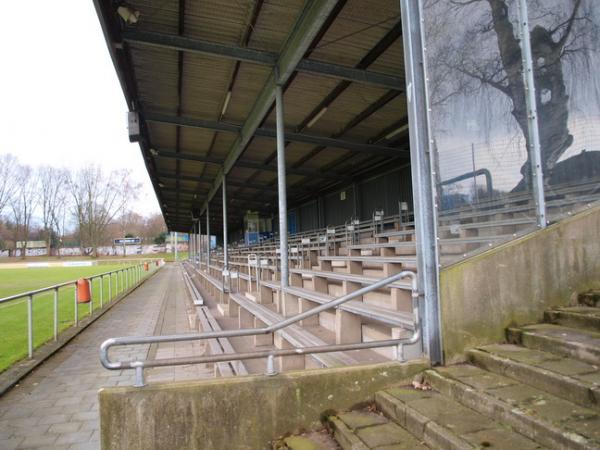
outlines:
[[[523,82],[525,84],[525,102],[527,103],[527,130],[529,134],[529,156],[531,161],[531,181],[535,201],[536,222],[539,228],[546,228],[546,199],[544,198],[544,174],[542,171],[542,151],[538,128],[537,104],[535,99],[535,80],[533,78],[533,57],[529,38],[529,19],[527,0],[519,0],[519,32],[523,64]]]

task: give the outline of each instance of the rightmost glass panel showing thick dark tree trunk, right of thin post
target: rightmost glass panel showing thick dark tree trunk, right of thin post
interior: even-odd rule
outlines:
[[[600,200],[599,3],[528,1],[550,220]]]

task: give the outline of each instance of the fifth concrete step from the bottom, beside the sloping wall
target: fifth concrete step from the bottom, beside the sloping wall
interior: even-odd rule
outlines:
[[[600,365],[600,332],[542,323],[509,328],[507,339],[511,344]]]

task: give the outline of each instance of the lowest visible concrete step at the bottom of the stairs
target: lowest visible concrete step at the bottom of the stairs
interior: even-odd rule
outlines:
[[[343,450],[429,448],[385,416],[367,410],[330,416],[328,423]]]

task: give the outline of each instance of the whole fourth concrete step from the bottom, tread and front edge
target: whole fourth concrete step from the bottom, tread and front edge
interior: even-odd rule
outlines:
[[[512,344],[472,349],[467,357],[482,369],[600,410],[600,370],[592,364]]]

